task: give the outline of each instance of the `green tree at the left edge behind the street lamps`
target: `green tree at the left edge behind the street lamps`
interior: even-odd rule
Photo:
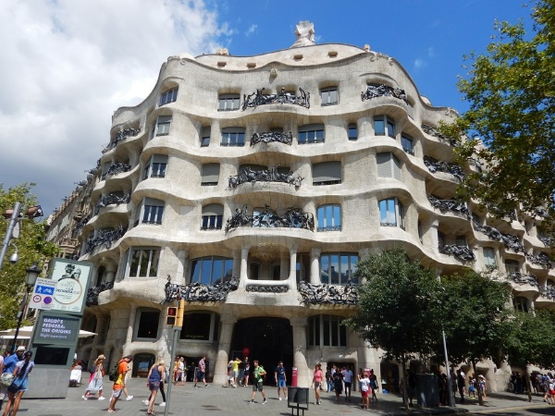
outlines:
[[[34,184],[23,183],[4,191],[0,183],[0,213],[14,208],[16,202],[21,203],[23,210],[36,206],[36,196],[30,193]],[[2,242],[6,236],[9,220],[0,218],[0,238]],[[6,259],[0,270],[0,329],[16,326],[17,314],[25,292],[26,269],[34,262],[42,267],[56,255],[58,248],[46,240],[46,230],[43,223],[22,217],[19,220],[21,230],[18,238],[11,239],[11,247],[6,253]],[[19,260],[15,264],[9,262],[9,256],[18,248]]]

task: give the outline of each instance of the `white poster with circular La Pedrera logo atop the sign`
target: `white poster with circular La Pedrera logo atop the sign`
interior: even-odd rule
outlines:
[[[92,272],[92,263],[53,259],[50,266],[50,277],[56,282],[56,289],[50,310],[83,314]]]

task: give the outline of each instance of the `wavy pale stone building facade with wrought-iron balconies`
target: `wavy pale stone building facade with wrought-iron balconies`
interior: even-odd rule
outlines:
[[[181,297],[176,355],[206,355],[214,382],[248,352],[298,368],[299,385],[315,363],[393,384],[395,366],[341,321],[356,313],[356,262],[395,245],[438,273],[495,268],[515,307],[555,306],[537,218],[455,201],[480,169],[456,165],[435,129],[455,110],[394,58],[310,34],[263,55],[171,56],[150,95],[113,114],[90,218],[75,222],[95,265],[83,329],[98,335],[81,357],[132,355],[134,376],[171,362],[166,306]],[[495,389],[493,370],[482,364]]]

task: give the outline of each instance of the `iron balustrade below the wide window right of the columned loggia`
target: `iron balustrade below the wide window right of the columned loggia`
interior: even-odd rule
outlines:
[[[310,284],[301,280],[297,285],[301,302],[305,304],[356,305],[359,303],[359,289],[347,280],[347,284]]]

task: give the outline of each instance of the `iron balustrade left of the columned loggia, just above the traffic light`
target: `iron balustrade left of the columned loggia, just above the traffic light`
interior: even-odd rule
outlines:
[[[179,299],[184,299],[186,302],[226,302],[229,292],[237,290],[238,287],[239,279],[236,276],[212,285],[199,282],[189,284],[171,283],[171,277],[168,276],[164,302],[173,302]]]

